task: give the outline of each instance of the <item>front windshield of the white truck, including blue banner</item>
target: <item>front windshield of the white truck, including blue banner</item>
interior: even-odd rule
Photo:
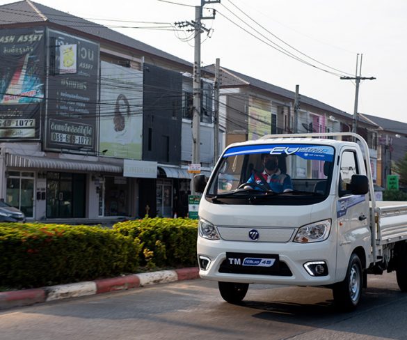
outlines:
[[[230,204],[322,201],[330,190],[334,153],[332,146],[321,144],[234,146],[216,167],[207,199]]]

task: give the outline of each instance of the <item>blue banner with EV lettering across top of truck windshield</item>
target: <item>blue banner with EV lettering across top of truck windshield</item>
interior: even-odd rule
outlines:
[[[333,147],[314,144],[262,144],[234,146],[226,150],[223,157],[269,153],[270,155],[297,155],[305,160],[333,161]]]

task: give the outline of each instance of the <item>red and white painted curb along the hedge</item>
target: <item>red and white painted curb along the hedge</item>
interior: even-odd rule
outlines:
[[[97,279],[77,284],[58,284],[22,291],[6,291],[0,292],[0,309],[198,278],[199,268],[193,267]]]

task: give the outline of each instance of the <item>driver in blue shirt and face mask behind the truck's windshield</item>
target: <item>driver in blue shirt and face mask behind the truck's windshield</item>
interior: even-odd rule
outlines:
[[[291,177],[279,169],[278,157],[269,153],[262,153],[261,157],[264,171],[262,173],[254,171],[247,183],[257,183],[276,193],[292,191]],[[250,185],[245,188],[250,188]],[[258,187],[254,187],[254,189],[258,189]]]

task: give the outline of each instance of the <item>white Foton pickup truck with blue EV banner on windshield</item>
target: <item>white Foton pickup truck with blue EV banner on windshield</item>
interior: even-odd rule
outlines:
[[[278,169],[266,171],[271,155]],[[232,144],[209,180],[195,176],[194,189],[202,192],[200,277],[218,281],[228,302],[241,302],[250,283],[325,286],[352,310],[367,274],[384,270],[396,270],[407,291],[407,202],[375,202],[369,148],[358,134]]]

